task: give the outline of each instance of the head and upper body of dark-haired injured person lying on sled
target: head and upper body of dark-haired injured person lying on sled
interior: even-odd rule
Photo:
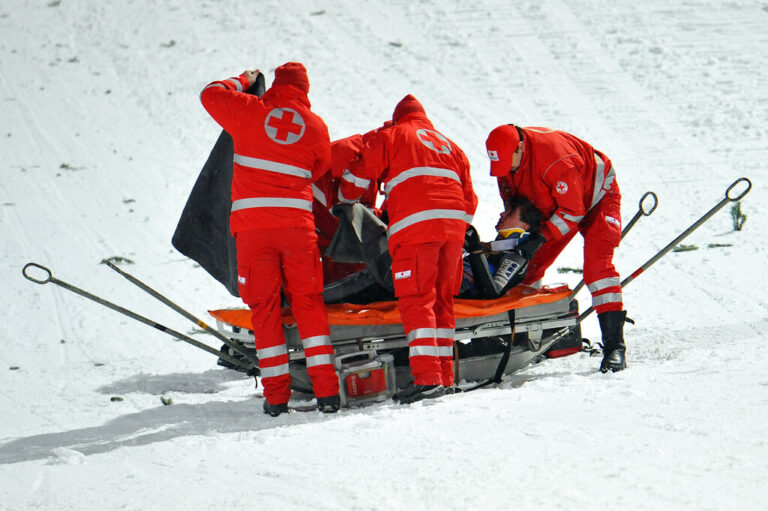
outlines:
[[[483,243],[474,227],[464,238],[464,278],[459,298],[493,299],[506,294],[525,278],[533,253],[538,249],[531,233],[538,231],[541,212],[518,195],[499,216],[496,240]]]

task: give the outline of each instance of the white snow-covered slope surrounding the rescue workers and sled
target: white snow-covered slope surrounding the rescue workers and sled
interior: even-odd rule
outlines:
[[[766,27],[761,1],[4,0],[0,508],[766,509]],[[470,159],[485,238],[500,200],[484,141],[507,122],[605,151],[625,222],[658,194],[623,275],[742,176],[748,220],[734,232],[726,206],[686,240],[699,250],[626,289],[622,373],[579,354],[433,403],[267,417],[208,353],[21,268],[206,340],[99,263],[132,260],[203,318],[240,306],[170,244],[219,133],[198,94],[288,60],[332,138],[416,95]],[[580,251],[547,280],[575,285],[556,268]],[[599,339],[594,316],[583,330]]]

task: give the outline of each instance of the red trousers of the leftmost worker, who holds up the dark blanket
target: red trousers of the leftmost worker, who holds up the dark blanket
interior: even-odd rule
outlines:
[[[296,318],[315,396],[338,394],[315,233],[303,228],[254,229],[237,233],[235,241],[238,290],[252,313],[264,397],[271,404],[287,403],[291,397],[281,286]]]

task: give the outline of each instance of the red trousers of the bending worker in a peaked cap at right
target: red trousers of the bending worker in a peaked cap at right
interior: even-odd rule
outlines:
[[[621,241],[621,194],[615,181],[579,223],[578,231],[584,237],[584,282],[592,293],[592,306],[598,314],[623,310],[621,280],[613,265],[613,253]],[[576,230],[544,243],[533,256],[523,283],[541,279],[574,236]]]

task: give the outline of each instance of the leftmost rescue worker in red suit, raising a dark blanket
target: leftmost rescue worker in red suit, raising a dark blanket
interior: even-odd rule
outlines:
[[[291,395],[281,286],[296,318],[318,408],[336,412],[339,384],[312,217],[312,182],[330,168],[328,128],[310,110],[302,64],[275,69],[272,87],[261,98],[244,92],[258,74],[245,71],[212,82],[200,100],[234,140],[230,229],[238,290],[252,312],[264,412],[287,412]]]

